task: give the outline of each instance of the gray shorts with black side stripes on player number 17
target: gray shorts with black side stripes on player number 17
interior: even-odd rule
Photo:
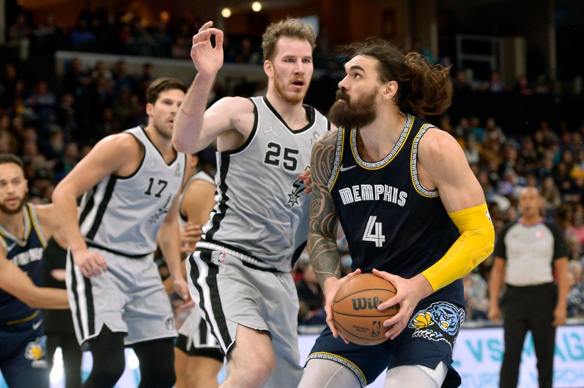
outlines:
[[[172,307],[152,255],[121,256],[91,248],[105,258],[107,271],[86,278],[67,252],[67,292],[73,326],[82,348],[105,324],[113,333],[126,333],[126,345],[175,338]]]

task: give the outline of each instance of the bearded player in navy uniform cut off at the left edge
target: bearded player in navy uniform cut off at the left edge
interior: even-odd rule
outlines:
[[[48,388],[38,309],[68,309],[67,292],[40,287],[43,250],[58,229],[53,205],[25,202],[23,163],[0,154],[0,370],[9,387]]]

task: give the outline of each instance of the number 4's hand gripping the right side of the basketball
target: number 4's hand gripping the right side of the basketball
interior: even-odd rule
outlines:
[[[411,279],[404,279],[384,271],[373,270],[373,273],[393,284],[397,290],[393,298],[386,300],[377,307],[379,310],[385,310],[399,303],[398,313],[383,322],[383,326],[390,327],[385,332],[385,337],[390,337],[393,340],[408,325],[413,310],[420,300],[426,298],[426,296],[433,292],[432,285],[430,285],[426,277],[422,274]]]

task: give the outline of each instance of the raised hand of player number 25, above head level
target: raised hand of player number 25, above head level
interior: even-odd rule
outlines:
[[[199,29],[190,48],[194,67],[204,77],[214,77],[223,65],[223,31],[211,26],[213,22],[207,22]],[[215,47],[211,44],[212,35],[215,36]]]

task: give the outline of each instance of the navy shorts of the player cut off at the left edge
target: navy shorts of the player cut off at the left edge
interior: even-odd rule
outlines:
[[[39,316],[0,324],[0,370],[9,387],[48,388],[47,339]]]

